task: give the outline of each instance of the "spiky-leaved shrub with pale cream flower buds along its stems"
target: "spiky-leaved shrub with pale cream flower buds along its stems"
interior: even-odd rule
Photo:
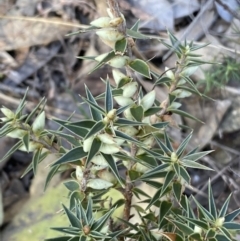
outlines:
[[[178,100],[192,94],[204,97],[190,77],[205,64],[201,56],[194,53],[204,46],[181,43],[168,32],[170,42],[159,41],[172,50],[178,60],[174,68],[166,68],[158,75],[145,61],[130,58],[129,43],[148,37],[138,31],[139,22],[124,33],[120,32],[119,27],[125,26],[125,19],[119,16],[112,16],[110,11],[109,17],[91,23],[100,39],[112,50],[84,59],[98,62],[92,71],[105,64],[112,66],[115,81],[111,85],[108,77],[103,79],[106,89],[97,97],[85,86],[86,97],[82,99],[89,106],[91,116],[75,122],[71,117],[53,119],[59,129],[46,130],[44,98],[28,116],[22,114],[26,92],[15,112],[1,108],[4,115],[1,137],[19,139],[2,160],[18,149],[33,152],[32,163],[25,173],[31,169],[36,173],[37,166],[48,153],[57,153],[58,159],[50,166],[45,188],[56,173],[75,169],[72,180],[64,183],[69,191],[69,207],[63,205],[63,210],[69,226],[53,228],[63,236],[48,241],[233,240],[232,231],[240,229],[234,222],[240,210],[227,214],[230,197],[218,211],[209,181],[208,209],[191,198],[197,206],[196,214],[190,198],[184,194],[185,186],[191,183],[189,168],[211,170],[198,162],[211,151],[199,152],[197,148],[189,151],[191,132],[178,148],[174,148],[168,133],[173,113],[201,122],[180,110]],[[125,68],[128,75],[116,68]],[[154,87],[165,85],[167,99],[159,103],[155,89],[143,94],[134,73],[153,79]],[[99,104],[100,99],[104,99],[104,106]],[[66,134],[65,130],[70,133]],[[68,149],[61,145],[62,140],[70,144]],[[126,176],[120,175],[123,167]],[[145,183],[155,189],[155,193],[148,195],[148,190],[137,188],[136,183]],[[146,203],[146,208],[132,203],[132,196]],[[132,220],[131,208],[139,216],[138,225]]]

